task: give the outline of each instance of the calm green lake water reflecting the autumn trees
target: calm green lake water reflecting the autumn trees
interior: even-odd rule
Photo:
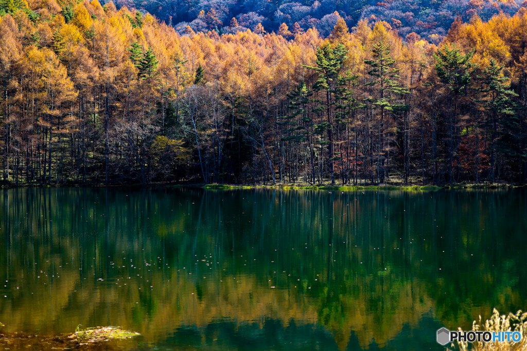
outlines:
[[[441,350],[527,308],[525,190],[0,192],[1,332],[131,349]]]

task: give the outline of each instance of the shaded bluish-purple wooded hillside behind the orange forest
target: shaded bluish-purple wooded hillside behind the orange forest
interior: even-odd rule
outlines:
[[[255,31],[258,25],[278,33],[286,25],[292,34],[316,28],[326,37],[342,17],[349,27],[359,19],[385,21],[403,38],[417,33],[438,44],[456,18],[468,22],[479,15],[488,21],[500,12],[513,15],[522,0],[118,0],[116,5],[149,12],[174,25],[180,34],[187,26],[194,32],[214,29],[220,34],[235,34]]]

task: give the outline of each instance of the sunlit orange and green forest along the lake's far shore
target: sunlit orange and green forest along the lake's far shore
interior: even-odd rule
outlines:
[[[527,182],[525,6],[438,43],[337,12],[328,35],[97,0],[0,15],[4,185]]]

